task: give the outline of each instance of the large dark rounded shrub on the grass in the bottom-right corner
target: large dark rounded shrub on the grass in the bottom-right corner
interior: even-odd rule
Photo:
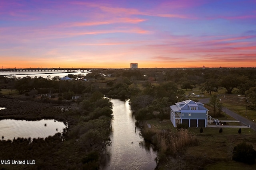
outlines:
[[[244,162],[246,164],[254,164],[256,152],[252,145],[240,143],[233,149],[232,160]]]

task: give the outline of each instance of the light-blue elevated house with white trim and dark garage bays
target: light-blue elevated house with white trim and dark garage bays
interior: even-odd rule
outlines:
[[[208,121],[208,109],[200,102],[185,100],[178,102],[171,108],[171,122],[177,124],[188,124],[188,127],[206,127]]]

